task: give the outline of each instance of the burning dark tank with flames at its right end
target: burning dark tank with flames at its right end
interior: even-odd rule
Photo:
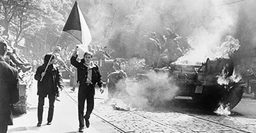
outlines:
[[[241,100],[244,82],[232,59],[216,58],[201,64],[172,63],[169,77],[179,87],[177,96],[192,97],[207,109],[234,108]]]

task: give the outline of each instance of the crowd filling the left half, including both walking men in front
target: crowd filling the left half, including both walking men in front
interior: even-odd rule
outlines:
[[[106,47],[96,46],[96,50],[93,47],[89,47],[89,51],[84,53],[84,58],[80,59],[77,54],[78,48],[74,48],[72,52],[62,51],[65,56],[61,54],[61,47],[55,47],[52,53],[47,53],[43,58],[38,59],[26,59],[24,55],[18,55],[17,49],[9,47],[8,42],[4,39],[0,40],[0,89],[1,97],[5,97],[6,100],[1,100],[0,103],[6,105],[4,108],[0,108],[0,132],[7,132],[7,125],[12,125],[12,110],[10,109],[12,104],[17,103],[19,100],[19,72],[31,72],[35,71],[34,78],[38,81],[38,124],[40,127],[43,120],[43,106],[44,99],[49,99],[49,111],[47,116],[47,125],[52,124],[54,103],[60,96],[60,91],[64,88],[60,66],[65,71],[76,74],[75,77],[77,83],[79,83],[79,132],[83,132],[84,126],[89,127],[90,114],[92,113],[94,106],[94,94],[95,85],[99,86],[101,93],[104,92],[102,86],[106,83],[102,82],[102,75],[100,68],[92,60],[105,60],[111,59],[111,55],[106,51]],[[90,52],[91,51],[91,52]],[[71,55],[70,55],[71,54]],[[71,57],[71,58],[70,58]],[[30,60],[32,64],[30,63]],[[70,64],[68,63],[70,62]],[[118,61],[115,61],[118,64]],[[70,66],[73,66],[70,67]],[[74,72],[76,69],[76,72]],[[126,78],[126,73],[120,69],[117,65],[113,66],[116,70],[108,75],[108,96],[112,98],[117,88],[119,80]],[[7,77],[7,78],[6,78]],[[125,80],[122,80],[122,92],[125,90]],[[76,87],[75,87],[76,88]],[[3,93],[2,93],[3,92]],[[5,93],[6,92],[6,93]],[[123,91],[126,92],[127,91]],[[84,103],[87,100],[87,111],[84,115]],[[85,125],[84,125],[85,122]]]

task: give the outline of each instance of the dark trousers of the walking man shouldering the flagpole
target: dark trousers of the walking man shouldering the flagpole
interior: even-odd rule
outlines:
[[[39,95],[38,97],[38,122],[40,123],[42,123],[42,120],[43,120],[44,98],[45,96],[43,95]],[[49,99],[49,110],[48,110],[47,122],[52,122],[55,95],[54,94],[48,95],[48,99]]]

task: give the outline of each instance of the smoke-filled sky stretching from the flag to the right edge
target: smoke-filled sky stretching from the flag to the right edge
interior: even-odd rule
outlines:
[[[239,39],[242,51],[255,47],[255,0],[79,0],[93,36],[93,44],[119,51],[130,58],[142,54],[139,45],[152,31],[163,36],[171,28],[193,41],[197,54],[215,53],[222,39]],[[200,55],[198,55],[200,53]]]

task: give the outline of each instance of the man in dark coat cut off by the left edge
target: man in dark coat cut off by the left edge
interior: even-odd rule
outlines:
[[[6,49],[6,42],[0,41],[0,133],[13,125],[10,106],[19,100],[18,71],[5,62]]]

